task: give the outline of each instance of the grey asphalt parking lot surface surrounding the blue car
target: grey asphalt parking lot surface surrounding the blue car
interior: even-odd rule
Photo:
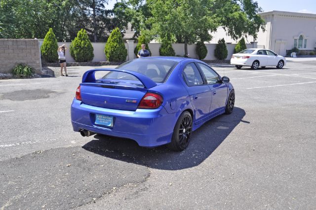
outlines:
[[[235,110],[183,152],[74,132],[70,105],[94,67],[0,81],[0,209],[315,210],[316,59],[288,60],[211,64],[234,85]]]

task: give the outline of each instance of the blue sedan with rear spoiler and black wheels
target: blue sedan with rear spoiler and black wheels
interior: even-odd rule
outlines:
[[[115,69],[89,70],[71,106],[74,131],[135,140],[142,147],[188,147],[192,131],[231,114],[235,91],[206,63],[182,57],[146,57]]]

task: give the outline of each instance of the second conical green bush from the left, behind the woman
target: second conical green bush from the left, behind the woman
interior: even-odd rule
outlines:
[[[75,40],[71,42],[70,54],[77,62],[87,62],[93,59],[93,46],[84,29],[81,29]]]

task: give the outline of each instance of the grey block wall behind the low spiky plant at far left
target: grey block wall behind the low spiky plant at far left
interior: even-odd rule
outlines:
[[[8,73],[16,64],[25,63],[41,72],[38,40],[0,39],[0,73]]]

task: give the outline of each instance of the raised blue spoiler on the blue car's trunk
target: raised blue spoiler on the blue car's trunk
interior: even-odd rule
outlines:
[[[152,81],[150,78],[146,77],[141,73],[122,69],[93,69],[86,71],[82,76],[82,83],[95,83],[96,80],[94,74],[96,71],[124,72],[135,76],[147,89],[157,86],[157,84],[154,81]]]

